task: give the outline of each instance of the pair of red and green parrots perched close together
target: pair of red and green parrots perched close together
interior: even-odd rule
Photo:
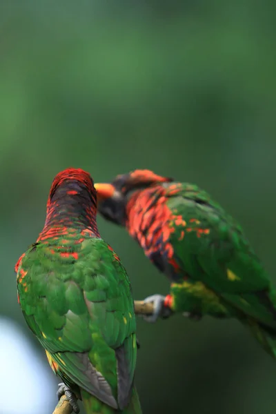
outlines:
[[[101,239],[98,212],[126,227],[170,280],[152,295],[155,322],[181,312],[236,317],[276,356],[276,298],[242,228],[195,185],[150,170],[93,184],[81,169],[55,177],[46,222],[15,266],[18,300],[77,413],[139,414],[135,310],[128,275]]]

